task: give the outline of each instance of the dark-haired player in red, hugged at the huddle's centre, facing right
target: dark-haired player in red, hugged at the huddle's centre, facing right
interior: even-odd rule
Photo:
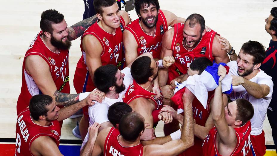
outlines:
[[[144,53],[148,54],[148,53]],[[174,60],[173,60],[174,61]],[[123,99],[124,103],[130,105],[135,112],[141,114],[148,128],[156,127],[158,121],[163,119],[164,123],[171,123],[173,118],[170,113],[159,111],[163,107],[163,96],[156,99],[153,93],[153,81],[158,76],[158,61],[153,59],[149,53],[148,56],[142,56],[136,59],[131,66],[133,82],[129,86]]]

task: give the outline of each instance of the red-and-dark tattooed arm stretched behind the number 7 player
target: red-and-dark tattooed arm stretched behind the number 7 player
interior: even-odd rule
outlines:
[[[97,21],[97,16],[94,15],[90,18],[84,19],[71,27],[68,27],[68,39],[74,40],[83,35],[84,31],[93,23]]]

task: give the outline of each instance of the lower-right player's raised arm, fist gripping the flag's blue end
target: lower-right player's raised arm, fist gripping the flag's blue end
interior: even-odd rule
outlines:
[[[225,77],[225,75],[226,75],[226,68],[220,65],[218,67],[218,76],[220,76],[220,78],[218,82],[218,87],[215,90],[213,104],[211,106],[212,108],[211,114],[222,143],[224,143],[224,145],[226,146],[234,147],[236,145],[236,140],[237,140],[236,132],[231,126],[228,126],[228,123],[225,119],[225,111],[224,111],[222,91],[221,91],[221,80]]]

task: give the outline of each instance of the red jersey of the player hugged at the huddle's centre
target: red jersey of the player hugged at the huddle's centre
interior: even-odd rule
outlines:
[[[159,122],[159,118],[158,118],[159,111],[163,107],[162,92],[161,92],[161,98],[156,100],[155,93],[151,91],[147,91],[146,89],[142,88],[139,84],[137,84],[135,80],[133,80],[133,83],[131,83],[131,85],[129,86],[128,90],[125,93],[123,102],[129,105],[133,100],[139,97],[144,97],[146,99],[150,99],[155,102],[155,109],[152,111],[152,116],[153,116],[154,126],[156,126]]]

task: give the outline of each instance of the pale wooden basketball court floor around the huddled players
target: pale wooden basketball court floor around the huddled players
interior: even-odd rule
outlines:
[[[15,138],[16,102],[21,88],[22,62],[31,41],[40,31],[39,21],[42,11],[58,10],[70,26],[82,20],[84,2],[81,0],[0,1],[0,142],[11,144],[9,142]],[[268,47],[271,38],[264,30],[264,19],[270,15],[271,8],[277,6],[277,2],[274,3],[272,0],[160,0],[159,3],[161,9],[169,10],[180,17],[186,18],[192,13],[201,14],[205,18],[206,25],[228,39],[237,53],[241,45],[248,40],[261,42],[266,48]],[[135,10],[129,13],[133,20],[137,18]],[[72,41],[69,56],[71,93],[74,94],[76,91],[73,87],[73,76],[81,56],[80,39]],[[61,134],[64,143],[76,143],[74,140],[78,140],[71,133],[77,120],[80,118],[64,121]],[[273,145],[267,119],[264,122],[264,131],[266,145]],[[159,123],[156,135],[164,135],[162,123]],[[266,155],[276,153],[267,151]]]

